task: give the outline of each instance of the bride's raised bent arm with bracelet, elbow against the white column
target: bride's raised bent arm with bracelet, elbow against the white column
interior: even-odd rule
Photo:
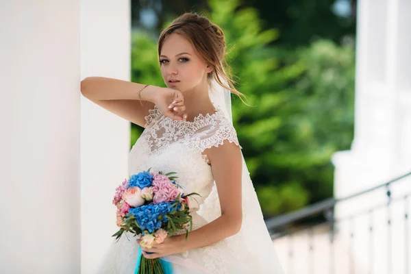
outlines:
[[[165,116],[182,119],[186,108],[179,90],[151,85],[143,88],[144,86],[108,77],[86,77],[82,80],[81,92],[90,101],[136,125],[145,125],[144,117],[154,105],[157,105]],[[140,102],[138,91],[141,88]],[[173,101],[176,103],[173,104]],[[170,104],[173,108],[169,108]]]

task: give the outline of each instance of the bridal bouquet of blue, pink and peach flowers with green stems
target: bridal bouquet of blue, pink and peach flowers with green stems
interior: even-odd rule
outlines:
[[[185,195],[183,188],[175,182],[176,174],[154,174],[149,169],[125,179],[116,188],[113,199],[120,229],[112,236],[119,239],[123,232],[132,232],[140,246],[148,248],[164,242],[167,236],[173,236],[180,229],[186,230],[187,238],[192,229],[188,197],[198,194]],[[141,255],[136,273],[163,274],[164,269],[158,258],[150,260]]]

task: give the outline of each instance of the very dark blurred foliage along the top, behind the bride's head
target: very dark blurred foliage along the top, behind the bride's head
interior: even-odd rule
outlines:
[[[339,43],[345,36],[356,34],[356,3],[351,14],[338,16],[332,5],[337,0],[252,0],[242,1],[236,10],[255,8],[259,11],[264,29],[275,28],[280,36],[275,45],[295,47],[309,45],[312,39],[325,38]],[[222,6],[222,5],[221,5]],[[166,21],[183,12],[211,10],[208,0],[132,0],[132,25],[157,32]],[[147,25],[142,12],[149,12],[155,20]]]

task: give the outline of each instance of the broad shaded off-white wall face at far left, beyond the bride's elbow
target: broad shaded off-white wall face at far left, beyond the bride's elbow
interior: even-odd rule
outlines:
[[[79,3],[1,1],[0,37],[0,273],[80,273]]]

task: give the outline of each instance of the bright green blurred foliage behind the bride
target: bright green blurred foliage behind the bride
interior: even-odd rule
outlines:
[[[354,50],[332,40],[309,46],[274,45],[255,8],[236,0],[208,1],[203,12],[220,25],[236,87],[249,107],[232,97],[233,120],[264,216],[331,197],[332,153],[353,139]],[[156,38],[132,36],[132,81],[164,86]],[[234,95],[233,95],[234,96]],[[132,145],[141,128],[133,125]]]

